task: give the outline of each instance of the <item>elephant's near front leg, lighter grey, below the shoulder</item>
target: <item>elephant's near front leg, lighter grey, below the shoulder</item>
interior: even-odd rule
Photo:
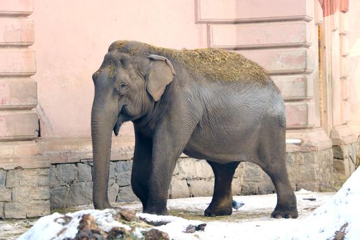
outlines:
[[[195,128],[195,125],[194,125]],[[171,128],[165,125],[153,139],[152,169],[149,176],[149,199],[145,213],[167,214],[168,190],[180,154],[189,141],[193,129]]]

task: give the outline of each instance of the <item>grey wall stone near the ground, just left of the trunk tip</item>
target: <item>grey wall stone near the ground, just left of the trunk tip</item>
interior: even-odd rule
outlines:
[[[80,206],[93,203],[93,183],[74,182],[69,191],[67,206]]]

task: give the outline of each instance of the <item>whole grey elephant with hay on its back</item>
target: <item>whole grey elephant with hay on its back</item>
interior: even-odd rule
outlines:
[[[285,163],[285,104],[267,72],[239,53],[112,43],[93,74],[93,204],[111,208],[112,131],[134,125],[131,186],[144,213],[167,214],[168,189],[180,154],[205,159],[215,184],[205,216],[232,214],[232,178],[241,161],[274,183],[276,218],[296,218]]]

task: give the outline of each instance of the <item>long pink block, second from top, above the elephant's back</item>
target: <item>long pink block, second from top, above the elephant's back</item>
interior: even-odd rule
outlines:
[[[309,47],[313,25],[306,21],[208,25],[210,47],[250,49]]]

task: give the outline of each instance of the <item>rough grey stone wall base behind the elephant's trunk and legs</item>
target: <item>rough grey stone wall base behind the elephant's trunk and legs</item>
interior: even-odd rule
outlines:
[[[332,149],[287,153],[287,169],[293,190],[320,191],[333,186]],[[92,163],[51,165],[49,187],[51,208],[92,204]],[[131,188],[132,160],[110,162],[110,202],[139,201]],[[206,160],[179,158],[169,187],[169,198],[213,195],[214,175]],[[269,176],[252,163],[241,163],[232,180],[233,195],[275,193]]]

